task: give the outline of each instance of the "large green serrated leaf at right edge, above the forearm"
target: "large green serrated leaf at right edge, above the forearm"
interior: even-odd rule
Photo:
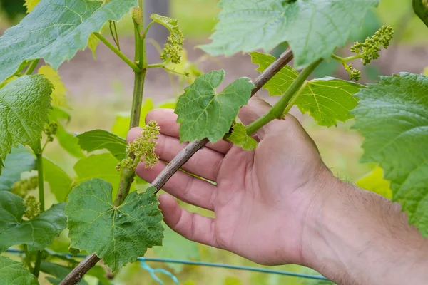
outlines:
[[[355,128],[365,140],[362,162],[377,162],[392,199],[428,236],[428,77],[400,73],[360,90]]]

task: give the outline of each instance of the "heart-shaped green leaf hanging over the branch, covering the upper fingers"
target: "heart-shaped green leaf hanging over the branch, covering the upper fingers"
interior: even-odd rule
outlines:
[[[223,138],[238,115],[239,109],[248,103],[254,84],[249,78],[238,78],[220,93],[225,71],[211,71],[198,77],[186,87],[185,93],[178,98],[175,113],[180,123],[180,141],[208,138],[216,142]]]

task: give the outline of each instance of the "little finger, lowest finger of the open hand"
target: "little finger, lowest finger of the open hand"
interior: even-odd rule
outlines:
[[[215,239],[215,219],[186,211],[170,195],[159,196],[159,202],[163,220],[168,227],[193,242],[218,247]]]

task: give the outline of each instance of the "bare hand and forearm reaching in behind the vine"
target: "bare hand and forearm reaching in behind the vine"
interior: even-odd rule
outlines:
[[[248,125],[270,105],[257,97],[239,113]],[[161,128],[153,169],[138,165],[151,182],[183,149],[173,110],[153,110],[146,120]],[[141,128],[128,133],[128,140]],[[428,242],[409,227],[397,204],[338,180],[315,142],[287,115],[255,135],[255,151],[229,142],[207,145],[183,165],[163,189],[215,213],[190,213],[161,195],[165,223],[190,240],[226,249],[265,265],[300,264],[338,284],[427,284]]]

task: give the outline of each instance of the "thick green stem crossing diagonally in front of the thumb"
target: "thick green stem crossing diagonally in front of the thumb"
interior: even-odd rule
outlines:
[[[310,73],[312,73],[312,71],[314,71],[322,61],[323,59],[320,58],[303,69],[295,81],[292,82],[287,91],[282,94],[280,100],[277,101],[277,103],[269,110],[269,112],[265,113],[265,115],[261,116],[258,118],[258,120],[255,120],[253,123],[250,123],[250,125],[247,126],[248,135],[253,135],[253,133],[258,131],[270,121],[282,118],[284,110],[287,108],[287,105],[289,105],[292,96],[295,95],[298,90],[300,90],[302,85],[305,84],[306,79],[310,76]]]

